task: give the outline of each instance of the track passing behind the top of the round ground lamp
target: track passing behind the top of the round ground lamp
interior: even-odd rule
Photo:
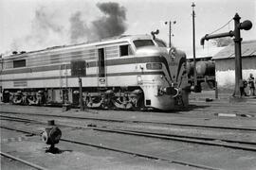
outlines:
[[[3,116],[3,115],[0,115],[0,117],[1,119],[4,118],[3,120],[9,120],[9,121],[46,124],[46,122],[44,121],[37,121],[37,120],[26,119],[26,118],[18,118],[18,117]],[[207,144],[207,145],[214,145],[214,146],[229,147],[234,149],[256,151],[256,142],[228,140],[228,139],[221,139],[221,138],[214,138],[214,137],[201,137],[201,136],[192,136],[192,135],[177,135],[177,134],[171,134],[171,133],[159,133],[159,132],[152,132],[152,131],[145,131],[145,130],[117,129],[113,127],[112,128],[84,127],[84,126],[68,125],[66,123],[59,124],[59,125],[62,127],[85,128],[85,129],[93,129],[93,130],[103,131],[103,132],[135,135],[135,136],[140,136],[140,137],[142,136],[142,137],[148,137],[148,138],[157,138],[161,140],[172,140],[172,141],[179,141],[179,142],[192,143],[192,144]]]

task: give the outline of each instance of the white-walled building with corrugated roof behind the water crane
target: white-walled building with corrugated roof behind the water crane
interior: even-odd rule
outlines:
[[[242,74],[243,79],[253,74],[256,78],[256,40],[242,42]],[[218,89],[233,91],[235,86],[235,54],[234,44],[222,49],[212,59],[215,61],[215,78]]]

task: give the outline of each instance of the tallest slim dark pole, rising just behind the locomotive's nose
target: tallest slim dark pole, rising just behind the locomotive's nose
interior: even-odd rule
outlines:
[[[192,3],[192,57],[193,57],[193,86],[197,86],[196,61],[195,61],[195,31],[194,31],[194,3]]]

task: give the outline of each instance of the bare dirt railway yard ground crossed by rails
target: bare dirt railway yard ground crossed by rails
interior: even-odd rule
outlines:
[[[1,169],[256,169],[256,98],[190,98],[168,112],[0,104]],[[62,130],[54,153],[40,136],[48,120]]]

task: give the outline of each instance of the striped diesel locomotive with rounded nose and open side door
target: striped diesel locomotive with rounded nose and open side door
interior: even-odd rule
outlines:
[[[79,104],[71,62],[85,61],[87,108],[174,110],[189,103],[186,55],[150,35],[46,48],[2,59],[3,102]]]

